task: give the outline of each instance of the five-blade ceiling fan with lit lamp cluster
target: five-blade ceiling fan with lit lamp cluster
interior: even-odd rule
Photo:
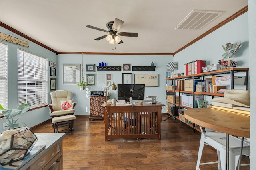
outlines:
[[[126,37],[138,37],[138,33],[128,33],[128,32],[118,33],[117,31],[120,29],[120,27],[122,26],[123,23],[124,23],[124,21],[119,20],[117,18],[115,19],[115,21],[108,22],[107,23],[108,31],[105,30],[105,29],[101,29],[101,28],[91,26],[91,25],[87,25],[86,27],[109,33],[108,35],[103,35],[101,37],[96,38],[95,40],[101,40],[103,38],[106,38],[106,40],[110,44],[114,44],[114,41],[116,41],[116,43],[118,43],[118,44],[121,44],[121,43],[123,43],[123,41],[120,39],[120,37],[118,35],[126,36]]]

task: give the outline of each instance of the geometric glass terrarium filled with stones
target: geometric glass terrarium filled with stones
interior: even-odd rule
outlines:
[[[0,163],[2,166],[22,160],[37,141],[28,127],[8,129],[0,134]]]

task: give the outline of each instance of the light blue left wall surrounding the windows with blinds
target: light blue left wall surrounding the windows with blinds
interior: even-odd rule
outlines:
[[[19,35],[16,35],[8,31],[7,29],[4,29],[3,27],[0,27],[0,32],[28,41],[27,39],[24,39],[23,37],[20,37]],[[8,43],[7,41],[1,40],[1,42],[8,44],[8,108],[16,109],[18,106],[17,49],[20,48],[29,51],[30,53],[46,57],[48,58],[48,61],[56,62],[57,58],[56,54],[52,51],[49,51],[35,43],[32,43],[31,41],[28,41],[28,48],[13,43]],[[50,76],[49,70],[50,66],[48,66],[48,76]],[[48,98],[48,102],[50,102],[50,98]],[[47,107],[43,107],[41,109],[28,111],[27,113],[23,114],[20,117],[18,123],[20,123],[20,126],[24,126],[25,123],[28,127],[33,127],[35,125],[38,125],[39,123],[42,123],[43,121],[46,121],[47,119],[50,119],[49,110]],[[3,120],[0,120],[0,132],[3,131],[2,123]]]

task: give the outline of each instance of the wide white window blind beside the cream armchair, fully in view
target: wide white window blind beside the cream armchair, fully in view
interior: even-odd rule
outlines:
[[[18,105],[47,103],[47,59],[18,49]]]

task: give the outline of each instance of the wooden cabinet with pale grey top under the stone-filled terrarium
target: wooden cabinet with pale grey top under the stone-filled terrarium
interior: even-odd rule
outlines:
[[[34,147],[45,145],[45,149],[20,164],[16,169],[42,170],[63,169],[62,139],[66,133],[35,133],[38,140]]]

